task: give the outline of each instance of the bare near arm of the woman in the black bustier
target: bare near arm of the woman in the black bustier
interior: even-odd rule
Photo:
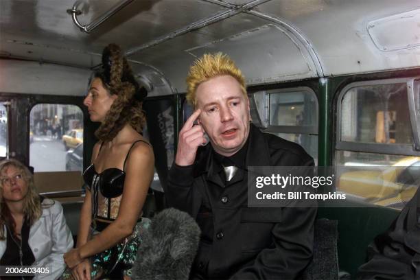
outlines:
[[[148,194],[153,172],[154,156],[150,145],[136,143],[126,163],[126,179],[117,219],[104,231],[95,235],[92,240],[78,248],[75,259],[81,260],[103,252],[132,233]],[[71,267],[70,262],[67,262],[67,265]]]

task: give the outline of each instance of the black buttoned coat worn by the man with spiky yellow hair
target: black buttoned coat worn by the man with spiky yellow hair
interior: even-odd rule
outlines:
[[[311,166],[300,145],[250,126],[246,166]],[[296,279],[312,259],[316,208],[248,208],[246,170],[224,183],[215,170],[211,145],[200,148],[196,163],[174,165],[165,198],[170,207],[197,218],[206,197],[211,200],[214,236],[200,249],[194,270],[206,279]],[[194,275],[191,277],[194,278]]]

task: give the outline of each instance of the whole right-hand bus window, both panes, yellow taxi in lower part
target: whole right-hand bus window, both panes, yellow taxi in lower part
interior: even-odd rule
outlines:
[[[420,183],[406,81],[351,84],[338,102],[338,190],[375,205],[403,207]]]

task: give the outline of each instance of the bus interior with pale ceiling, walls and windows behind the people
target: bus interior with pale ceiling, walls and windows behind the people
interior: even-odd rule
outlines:
[[[34,168],[77,235],[97,141],[82,102],[116,43],[148,90],[151,217],[192,112],[189,66],[222,51],[246,77],[255,125],[342,170],[336,189],[351,199],[318,218],[338,220],[338,264],[355,275],[419,185],[419,34],[415,0],[1,0],[0,157]]]

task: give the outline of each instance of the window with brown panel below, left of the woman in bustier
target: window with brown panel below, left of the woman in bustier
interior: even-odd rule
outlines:
[[[81,189],[83,113],[78,106],[36,104],[32,108],[30,165],[40,192]]]

